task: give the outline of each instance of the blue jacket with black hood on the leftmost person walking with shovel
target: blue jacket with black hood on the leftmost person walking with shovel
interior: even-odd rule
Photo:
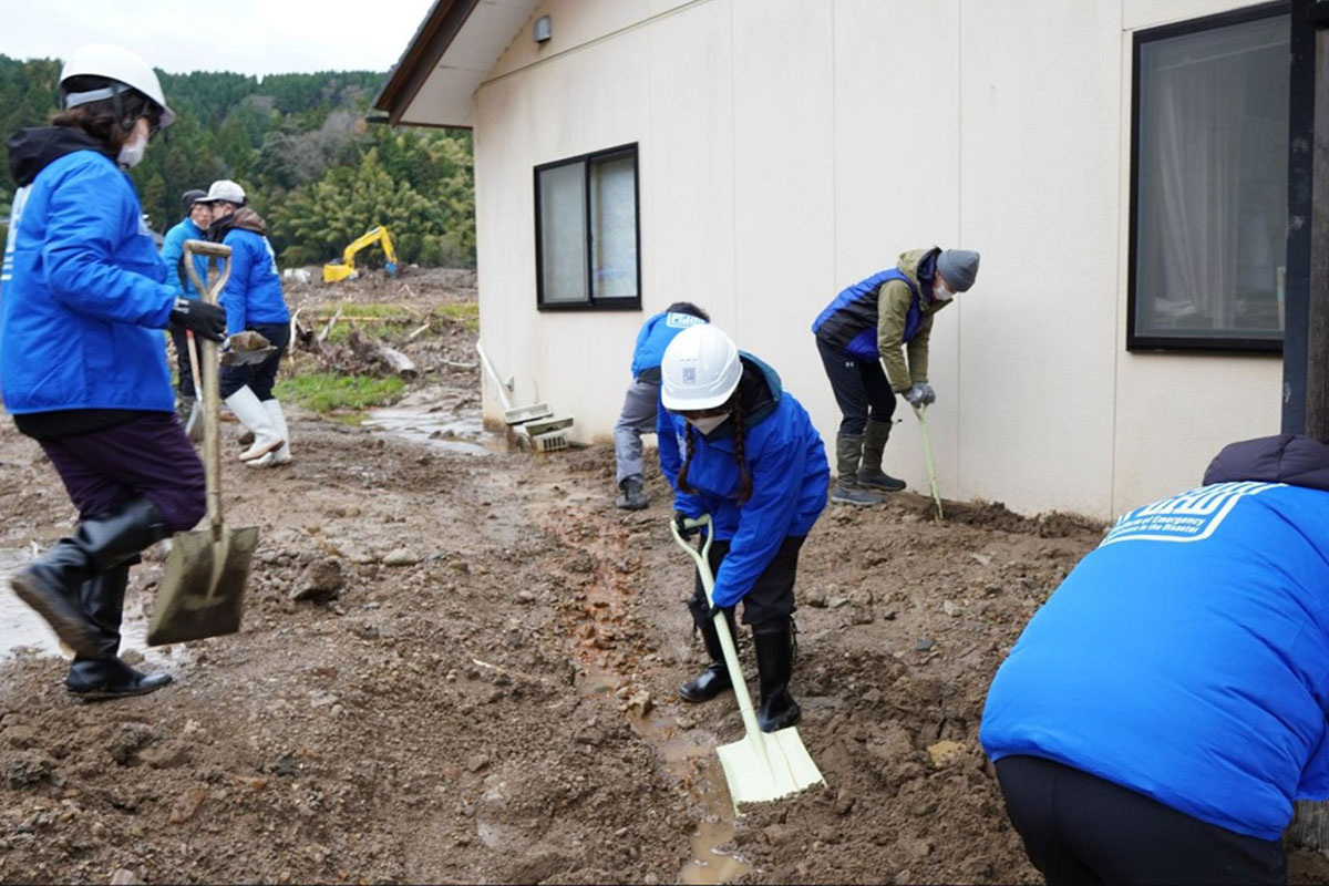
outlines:
[[[175,291],[114,161],[81,133],[24,130],[0,272],[0,395],[15,414],[170,412],[161,332]]]

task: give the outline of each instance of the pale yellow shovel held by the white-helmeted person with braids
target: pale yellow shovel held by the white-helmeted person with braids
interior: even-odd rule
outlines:
[[[696,561],[696,573],[702,576],[706,602],[714,606],[711,595],[715,588],[715,578],[711,575],[711,561],[708,559],[712,539],[711,517],[703,514],[699,519],[690,519],[683,525],[687,529],[706,529],[706,543],[698,551],[687,543],[687,539],[679,534],[678,526],[670,521],[674,539],[687,551],[688,557]],[[720,765],[724,768],[724,780],[730,784],[734,813],[743,814],[739,812],[739,804],[743,802],[779,800],[804,788],[825,784],[817,764],[812,761],[808,749],[803,747],[797,729],[789,727],[776,732],[762,732],[756,723],[756,712],[752,709],[752,697],[747,692],[747,680],[743,679],[739,654],[734,648],[734,638],[730,636],[730,626],[723,614],[715,615],[715,631],[720,635],[724,665],[730,669],[734,695],[739,700],[743,727],[747,731],[747,735],[738,741],[716,748]]]

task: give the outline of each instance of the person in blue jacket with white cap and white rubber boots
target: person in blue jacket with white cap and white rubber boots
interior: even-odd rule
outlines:
[[[229,179],[213,182],[202,202],[213,207],[207,236],[231,247],[231,276],[222,290],[226,331],[231,336],[258,332],[275,348],[259,364],[222,367],[222,399],[254,433],[241,461],[251,468],[283,465],[291,461],[291,446],[272,385],[291,341],[291,313],[282,298],[282,275],[267,239],[267,222],[246,205],[245,190]]]

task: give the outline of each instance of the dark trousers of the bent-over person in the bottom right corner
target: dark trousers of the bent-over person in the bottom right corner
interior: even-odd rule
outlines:
[[[1003,757],[997,780],[1034,867],[1059,883],[1286,883],[1277,840],[1200,821],[1042,757]]]

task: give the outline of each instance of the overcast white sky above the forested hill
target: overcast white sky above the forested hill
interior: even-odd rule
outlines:
[[[388,70],[433,0],[0,0],[0,53],[118,43],[169,73]]]

